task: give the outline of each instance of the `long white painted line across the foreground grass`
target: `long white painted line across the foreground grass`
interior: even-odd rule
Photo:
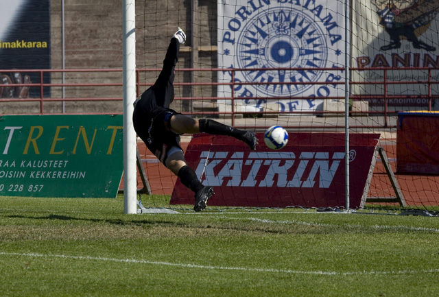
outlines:
[[[245,268],[245,267],[229,267],[229,266],[211,266],[211,265],[198,265],[198,264],[185,264],[185,263],[171,263],[163,261],[147,261],[139,259],[115,259],[107,257],[90,257],[90,256],[69,256],[65,254],[39,254],[34,252],[19,253],[19,252],[0,252],[0,256],[16,256],[16,257],[39,257],[39,258],[62,258],[62,259],[75,259],[84,261],[108,261],[117,263],[135,263],[135,264],[148,264],[148,265],[162,265],[162,266],[174,266],[179,268],[198,268],[206,270],[235,270],[244,272],[273,272],[283,274],[313,274],[313,275],[333,275],[333,276],[349,276],[349,275],[383,275],[383,274],[427,274],[438,273],[439,269],[430,270],[396,270],[396,271],[355,271],[355,272],[337,272],[337,271],[306,271],[306,270],[283,270],[283,269],[271,269],[271,268]]]

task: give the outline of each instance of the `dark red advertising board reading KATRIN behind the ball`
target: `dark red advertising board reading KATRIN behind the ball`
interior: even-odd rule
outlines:
[[[350,134],[350,206],[361,203],[379,134]],[[211,206],[336,207],[345,203],[343,133],[289,133],[281,150],[255,151],[228,136],[197,134],[185,158],[204,185],[215,190]],[[193,204],[193,192],[177,180],[171,204]]]

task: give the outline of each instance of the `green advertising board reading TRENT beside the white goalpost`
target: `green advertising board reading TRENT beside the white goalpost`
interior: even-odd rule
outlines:
[[[0,195],[115,198],[121,115],[0,117]]]

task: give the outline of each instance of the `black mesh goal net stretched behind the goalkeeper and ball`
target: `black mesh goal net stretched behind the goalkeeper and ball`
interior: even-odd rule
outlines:
[[[137,95],[181,27],[171,108],[259,138],[250,152],[230,137],[181,137],[188,165],[215,189],[209,207],[435,211],[436,2],[139,0]],[[271,126],[289,133],[281,150],[263,143]],[[191,204],[193,193],[137,141],[153,194],[140,195],[143,205]]]

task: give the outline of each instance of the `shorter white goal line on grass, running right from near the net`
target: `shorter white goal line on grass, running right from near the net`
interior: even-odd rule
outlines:
[[[225,218],[225,216],[223,216]],[[286,221],[276,221],[274,219],[258,219],[257,217],[228,217],[228,219],[240,219],[240,220],[246,220],[246,221],[253,221],[253,222],[259,222],[259,223],[266,223],[266,224],[289,224],[289,225],[302,225],[302,226],[323,226],[323,227],[348,227],[348,228],[373,228],[375,230],[410,230],[410,231],[427,231],[427,232],[434,232],[439,233],[439,228],[425,228],[425,227],[411,227],[411,226],[389,226],[389,225],[374,225],[374,226],[362,226],[362,225],[336,225],[336,224],[322,224],[322,223],[316,223],[316,222],[302,222],[297,221],[295,219],[293,220],[286,220]]]

